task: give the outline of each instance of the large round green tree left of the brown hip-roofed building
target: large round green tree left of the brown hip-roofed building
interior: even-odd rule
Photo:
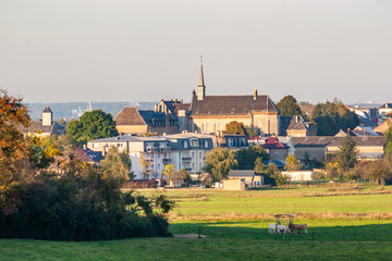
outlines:
[[[68,134],[77,142],[86,144],[91,139],[108,138],[119,135],[115,123],[109,113],[101,110],[85,112],[78,121],[70,122]]]

